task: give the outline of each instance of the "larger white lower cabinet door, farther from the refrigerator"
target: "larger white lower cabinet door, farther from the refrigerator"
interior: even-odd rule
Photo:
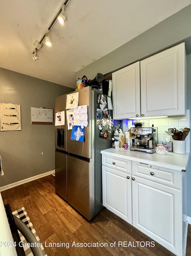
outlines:
[[[182,191],[132,175],[133,226],[182,255]]]

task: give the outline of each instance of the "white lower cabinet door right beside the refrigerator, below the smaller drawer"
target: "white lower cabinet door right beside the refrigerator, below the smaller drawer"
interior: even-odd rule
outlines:
[[[131,174],[102,165],[103,205],[132,224]]]

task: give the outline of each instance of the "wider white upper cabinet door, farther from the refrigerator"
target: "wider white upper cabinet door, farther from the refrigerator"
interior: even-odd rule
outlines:
[[[185,43],[140,62],[141,116],[185,115]]]

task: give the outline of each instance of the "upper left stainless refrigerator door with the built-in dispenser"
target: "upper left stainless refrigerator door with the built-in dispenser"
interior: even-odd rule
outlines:
[[[67,151],[67,123],[66,123],[66,94],[61,95],[55,99],[55,114],[56,111],[65,111],[64,118],[65,124],[55,126],[55,148],[63,151]]]

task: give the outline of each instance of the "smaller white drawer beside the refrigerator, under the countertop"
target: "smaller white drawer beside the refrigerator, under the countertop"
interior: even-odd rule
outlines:
[[[130,160],[102,154],[102,165],[114,168],[119,171],[132,173]]]

